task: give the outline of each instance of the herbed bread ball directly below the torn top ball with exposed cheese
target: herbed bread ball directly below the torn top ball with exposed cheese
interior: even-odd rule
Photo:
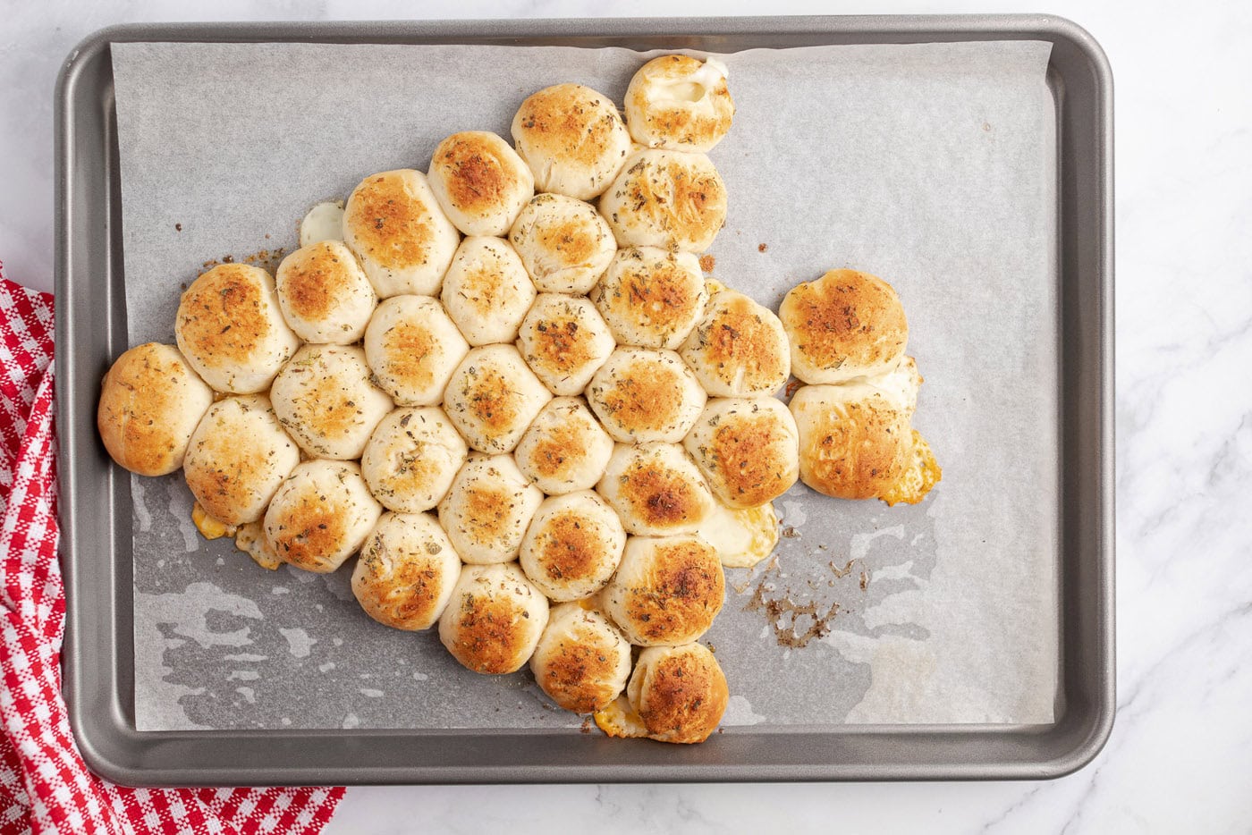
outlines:
[[[726,222],[726,184],[704,154],[641,150],[600,198],[620,247],[704,252]]]

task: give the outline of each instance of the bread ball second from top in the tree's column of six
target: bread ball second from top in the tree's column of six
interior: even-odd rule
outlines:
[[[517,217],[508,239],[543,293],[586,293],[608,268],[617,242],[590,203],[537,194]]]

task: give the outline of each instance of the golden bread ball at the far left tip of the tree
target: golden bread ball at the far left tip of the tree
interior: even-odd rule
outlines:
[[[192,433],[212,403],[213,389],[177,348],[149,342],[118,357],[104,376],[96,427],[120,466],[165,476],[183,466]]]

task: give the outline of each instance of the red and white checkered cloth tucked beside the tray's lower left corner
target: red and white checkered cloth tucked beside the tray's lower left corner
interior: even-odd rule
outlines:
[[[0,834],[319,832],[343,789],[124,789],[88,771],[61,700],[55,457],[53,297],[0,274]]]

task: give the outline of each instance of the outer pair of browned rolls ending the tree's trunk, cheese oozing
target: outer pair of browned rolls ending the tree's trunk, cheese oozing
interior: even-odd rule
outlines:
[[[909,325],[891,285],[830,270],[793,288],[779,315],[791,369],[811,383],[791,398],[800,479],[836,498],[920,502],[942,472],[911,428],[921,376],[904,356]]]

